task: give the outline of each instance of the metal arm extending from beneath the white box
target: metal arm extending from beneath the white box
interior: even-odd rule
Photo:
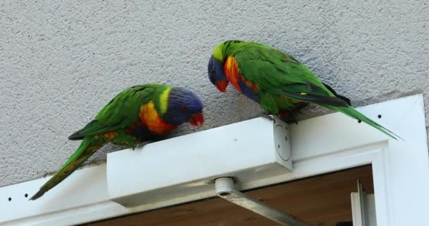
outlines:
[[[216,195],[220,198],[224,198],[226,201],[230,201],[231,203],[258,213],[259,215],[278,222],[281,225],[308,226],[307,224],[296,220],[292,215],[267,206],[267,204],[235,190],[234,180],[230,177],[218,178],[215,180],[214,184],[216,186]]]

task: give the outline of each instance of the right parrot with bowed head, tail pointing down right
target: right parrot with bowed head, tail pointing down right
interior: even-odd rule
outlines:
[[[296,109],[314,103],[399,138],[351,107],[348,98],[337,95],[294,57],[265,44],[237,40],[218,44],[210,57],[208,76],[221,92],[231,83],[268,114],[290,117]]]

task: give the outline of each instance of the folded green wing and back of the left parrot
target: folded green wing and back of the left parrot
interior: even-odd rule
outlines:
[[[152,95],[159,88],[167,88],[167,86],[145,84],[123,90],[99,111],[94,120],[68,138],[80,140],[85,136],[94,136],[130,126],[138,121],[140,107],[150,102]]]

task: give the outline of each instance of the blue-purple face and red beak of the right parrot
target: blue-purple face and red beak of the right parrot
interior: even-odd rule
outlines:
[[[226,79],[223,69],[223,59],[217,59],[217,57],[210,57],[208,73],[210,82],[216,85],[217,89],[223,93],[226,92],[226,87],[229,81]]]

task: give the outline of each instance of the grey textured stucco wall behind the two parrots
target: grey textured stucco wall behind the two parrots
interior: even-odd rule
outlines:
[[[208,81],[212,49],[229,39],[293,54],[356,106],[424,93],[429,118],[428,15],[424,0],[1,1],[0,186],[58,169],[79,145],[68,135],[133,84],[192,88],[203,129],[257,114]]]

